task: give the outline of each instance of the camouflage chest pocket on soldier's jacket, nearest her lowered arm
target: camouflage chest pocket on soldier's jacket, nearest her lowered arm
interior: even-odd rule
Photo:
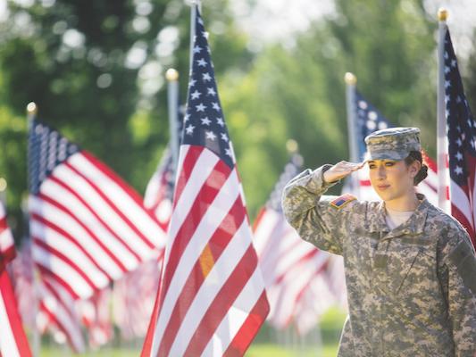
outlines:
[[[387,262],[381,262],[380,268],[386,273],[390,293],[412,295],[414,291],[422,294],[422,290],[430,287],[428,282],[432,279],[435,261],[429,245],[430,240],[418,237],[389,240],[385,254]]]

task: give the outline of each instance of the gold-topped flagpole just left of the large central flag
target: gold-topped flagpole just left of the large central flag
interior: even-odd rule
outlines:
[[[171,132],[171,157],[174,175],[179,160],[179,72],[173,68],[165,73],[167,79],[167,100],[169,104],[169,129]]]

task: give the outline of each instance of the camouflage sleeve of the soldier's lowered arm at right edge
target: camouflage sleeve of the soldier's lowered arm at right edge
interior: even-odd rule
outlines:
[[[455,232],[455,233],[453,233]],[[455,356],[476,355],[476,253],[464,228],[455,224],[438,241],[438,276],[447,297]]]

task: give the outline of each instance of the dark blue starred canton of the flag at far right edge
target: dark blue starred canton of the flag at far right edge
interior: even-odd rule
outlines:
[[[462,186],[467,185],[470,170],[474,171],[471,162],[476,159],[476,121],[464,95],[449,30],[445,37],[444,58],[449,174]]]

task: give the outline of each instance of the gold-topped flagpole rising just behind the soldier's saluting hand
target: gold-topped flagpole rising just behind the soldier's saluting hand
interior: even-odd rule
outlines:
[[[350,162],[360,162],[362,158],[359,157],[359,146],[357,143],[357,133],[355,118],[355,85],[357,83],[357,78],[354,73],[347,72],[344,76],[346,81],[346,107],[347,107],[347,135],[348,135],[348,145],[349,145],[349,159]],[[353,173],[355,175],[355,173]],[[359,185],[355,185],[355,179],[352,175],[347,177],[347,185],[351,187],[352,192],[355,195],[358,195]]]

